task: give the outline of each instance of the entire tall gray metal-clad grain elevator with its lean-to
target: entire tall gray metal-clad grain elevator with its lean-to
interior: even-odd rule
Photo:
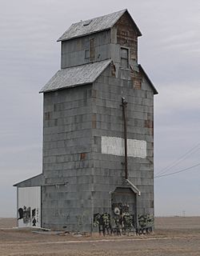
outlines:
[[[44,96],[42,174],[18,189],[18,226],[154,229],[154,94],[128,10],[74,23]]]

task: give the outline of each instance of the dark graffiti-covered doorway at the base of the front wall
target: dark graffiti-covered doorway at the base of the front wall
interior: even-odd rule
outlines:
[[[118,187],[111,198],[112,226],[117,232],[130,232],[136,228],[136,194],[130,188]]]

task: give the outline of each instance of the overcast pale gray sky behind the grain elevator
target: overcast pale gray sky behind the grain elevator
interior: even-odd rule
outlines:
[[[142,31],[139,62],[154,98],[155,174],[200,163],[199,0],[0,0],[0,217],[16,214],[16,182],[42,172],[42,94],[70,26],[127,8]],[[187,156],[187,155],[186,155]],[[200,215],[200,166],[155,180],[156,215]]]

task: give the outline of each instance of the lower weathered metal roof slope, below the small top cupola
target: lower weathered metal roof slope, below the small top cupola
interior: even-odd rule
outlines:
[[[102,62],[94,62],[58,70],[58,72],[50,78],[50,81],[42,87],[40,93],[92,83],[102,74],[102,71],[106,69],[110,62],[110,59],[106,59]]]

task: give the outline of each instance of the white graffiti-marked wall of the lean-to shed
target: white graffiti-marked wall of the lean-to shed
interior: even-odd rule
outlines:
[[[41,226],[41,187],[18,187],[18,226]]]

